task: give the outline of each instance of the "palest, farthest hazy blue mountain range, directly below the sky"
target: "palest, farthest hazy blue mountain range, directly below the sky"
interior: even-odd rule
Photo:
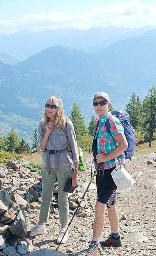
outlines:
[[[106,39],[135,30],[136,29],[133,28],[110,26],[107,28],[97,27],[89,30],[73,28],[45,29],[35,33],[24,29],[15,34],[1,34],[0,51],[10,54],[22,61],[33,54],[55,45],[88,50],[89,47]]]

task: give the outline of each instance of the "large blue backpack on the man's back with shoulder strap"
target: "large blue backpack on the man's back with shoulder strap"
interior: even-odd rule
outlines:
[[[110,112],[108,112],[108,114],[109,113]],[[109,119],[112,115],[115,115],[116,117],[118,117],[119,120],[121,121],[122,126],[124,127],[124,134],[128,141],[128,148],[124,151],[124,153],[125,153],[126,159],[131,160],[131,157],[134,155],[134,151],[135,151],[135,134],[134,134],[133,127],[131,126],[129,121],[129,114],[125,110],[118,109],[118,110],[112,111],[112,114],[108,115],[105,126],[106,126],[107,132],[110,135],[112,134],[110,132]]]

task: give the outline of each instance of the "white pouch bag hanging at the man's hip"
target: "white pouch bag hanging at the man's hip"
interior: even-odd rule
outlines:
[[[112,171],[112,178],[115,182],[116,186],[119,190],[126,189],[128,187],[132,187],[135,183],[134,178],[131,176],[128,171],[124,168],[122,164],[119,164],[117,160],[115,159],[116,167]]]

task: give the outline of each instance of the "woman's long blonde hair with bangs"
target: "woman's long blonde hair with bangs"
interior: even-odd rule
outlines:
[[[65,124],[66,124],[66,119],[68,119],[68,118],[64,115],[62,99],[58,96],[51,96],[49,99],[47,99],[46,103],[49,103],[50,105],[57,106],[57,114],[56,114],[54,125],[56,126],[57,130],[59,130],[59,131],[64,129]],[[49,122],[50,122],[50,117],[47,116],[46,107],[45,107],[44,116],[43,116],[43,124],[42,124],[44,129],[45,129],[46,124],[48,124]]]

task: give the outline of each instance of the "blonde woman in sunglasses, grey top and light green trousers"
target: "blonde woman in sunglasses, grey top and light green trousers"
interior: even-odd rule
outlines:
[[[67,136],[63,130],[65,127]],[[57,243],[60,243],[67,228],[69,213],[68,195],[63,189],[68,178],[72,178],[72,186],[77,184],[79,153],[73,124],[64,115],[62,100],[58,96],[52,96],[46,101],[44,118],[39,122],[36,148],[37,151],[43,152],[42,203],[38,224],[31,230],[30,236],[46,232],[44,223],[48,219],[53,188],[57,179],[61,224]],[[67,235],[66,232],[62,243],[66,243]]]

